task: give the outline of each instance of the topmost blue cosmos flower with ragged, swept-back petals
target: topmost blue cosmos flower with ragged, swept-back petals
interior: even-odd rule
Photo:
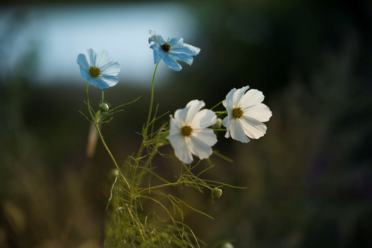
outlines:
[[[177,61],[183,61],[188,65],[192,65],[194,58],[200,52],[200,48],[183,43],[183,38],[171,38],[165,41],[160,34],[149,30],[151,37],[149,37],[150,48],[154,50],[154,63],[159,63],[162,59],[164,63],[175,71],[182,70]]]

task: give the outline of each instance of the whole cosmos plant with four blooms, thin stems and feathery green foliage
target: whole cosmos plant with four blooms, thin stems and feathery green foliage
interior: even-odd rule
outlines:
[[[184,209],[192,209],[212,217],[167,189],[193,187],[201,193],[207,190],[213,202],[214,198],[223,194],[220,187],[235,187],[203,178],[205,172],[214,167],[209,160],[212,154],[229,159],[213,150],[212,147],[218,141],[216,133],[225,132],[225,138],[231,137],[242,143],[249,142],[249,138],[260,138],[266,133],[267,127],[263,122],[269,121],[271,111],[262,103],[262,92],[248,90],[249,86],[245,86],[232,89],[223,101],[210,110],[204,108],[204,101],[189,101],[185,107],[169,115],[169,121],[162,121],[160,126],[155,125],[167,114],[158,114],[158,106],[154,107],[154,81],[158,64],[163,60],[172,70],[180,71],[182,67],[178,61],[192,65],[200,48],[183,43],[182,38],[165,41],[160,34],[152,30],[149,33],[155,64],[149,112],[141,130],[142,142],[138,151],[128,156],[123,163],[117,163],[110,152],[101,134],[100,125],[110,122],[116,112],[122,111],[125,105],[134,103],[139,97],[112,107],[104,99],[104,90],[118,83],[118,62],[110,61],[110,54],[105,50],[96,53],[88,49],[77,58],[81,76],[87,81],[85,103],[88,114],[85,117],[96,127],[101,143],[116,167],[107,204],[110,220],[107,223],[105,247],[200,247],[203,242],[184,222]],[[90,103],[89,85],[102,90],[98,110]],[[225,110],[215,111],[221,104]],[[164,145],[171,145],[174,155],[161,152],[159,148]],[[164,178],[156,172],[153,161],[155,156],[164,159],[174,156],[178,158],[179,173],[174,176],[174,180]],[[194,157],[198,161],[194,162]],[[207,161],[207,166],[196,171],[200,161]]]

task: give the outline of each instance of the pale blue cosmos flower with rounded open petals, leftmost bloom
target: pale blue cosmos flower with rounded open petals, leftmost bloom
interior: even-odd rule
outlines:
[[[120,72],[120,65],[109,59],[110,54],[106,50],[96,54],[92,48],[89,48],[85,54],[79,54],[76,62],[79,64],[81,77],[101,90],[116,85],[118,83],[116,75]]]

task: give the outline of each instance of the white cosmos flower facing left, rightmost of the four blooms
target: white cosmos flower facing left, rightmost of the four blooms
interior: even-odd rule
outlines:
[[[262,122],[269,121],[271,117],[269,107],[262,103],[262,92],[248,88],[232,89],[223,101],[228,114],[223,119],[223,125],[227,128],[225,137],[231,135],[231,138],[242,143],[249,142],[249,138],[264,136],[267,127]]]

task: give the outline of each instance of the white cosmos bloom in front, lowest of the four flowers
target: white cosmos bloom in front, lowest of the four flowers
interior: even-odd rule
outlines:
[[[170,116],[170,141],[174,154],[183,163],[192,163],[192,154],[200,159],[209,158],[211,146],[216,144],[217,137],[210,127],[217,120],[211,110],[200,110],[205,106],[204,101],[193,100],[186,107],[176,110],[174,117]]]

